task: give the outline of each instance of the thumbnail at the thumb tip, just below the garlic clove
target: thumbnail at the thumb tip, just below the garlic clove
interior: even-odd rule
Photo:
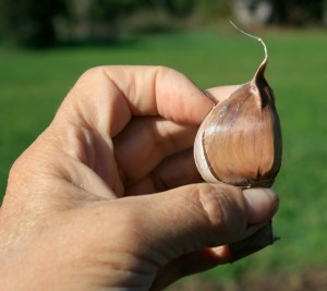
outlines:
[[[270,189],[247,189],[243,195],[250,225],[267,221],[278,209],[278,196]]]

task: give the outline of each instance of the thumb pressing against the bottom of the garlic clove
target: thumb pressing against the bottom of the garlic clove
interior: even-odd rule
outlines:
[[[278,206],[271,190],[242,191],[226,184],[187,185],[138,198],[143,235],[168,260],[243,240],[266,223]]]

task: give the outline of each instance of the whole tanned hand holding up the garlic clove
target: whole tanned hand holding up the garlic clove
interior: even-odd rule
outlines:
[[[211,108],[168,68],[84,73],[10,171],[0,290],[161,290],[228,263],[226,245],[263,227],[278,197],[201,183],[192,146]]]

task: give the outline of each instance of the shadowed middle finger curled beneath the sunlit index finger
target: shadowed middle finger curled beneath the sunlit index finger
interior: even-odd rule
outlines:
[[[113,138],[114,157],[124,185],[147,175],[166,157],[193,146],[195,125],[159,117],[134,118]]]

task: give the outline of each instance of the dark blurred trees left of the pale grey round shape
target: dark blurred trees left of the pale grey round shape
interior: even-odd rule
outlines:
[[[228,0],[0,0],[0,40],[48,47],[62,38],[112,38],[137,27],[172,28],[228,7]]]

